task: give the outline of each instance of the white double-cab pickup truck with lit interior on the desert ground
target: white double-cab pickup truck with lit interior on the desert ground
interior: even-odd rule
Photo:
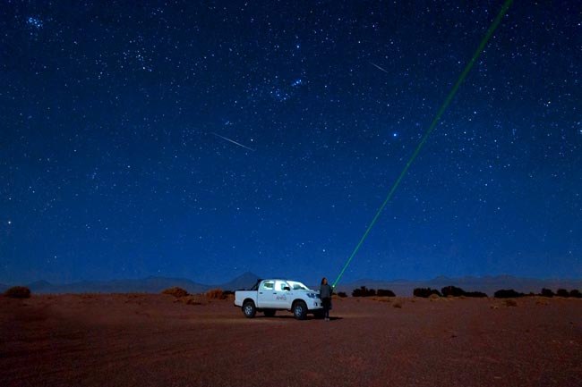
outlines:
[[[248,318],[257,312],[271,317],[278,310],[288,310],[303,320],[308,313],[321,317],[323,312],[319,291],[301,282],[279,279],[259,280],[251,290],[235,291],[235,307],[241,307]]]

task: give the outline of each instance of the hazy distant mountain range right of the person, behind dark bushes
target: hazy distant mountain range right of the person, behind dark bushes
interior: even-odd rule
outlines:
[[[493,293],[501,289],[513,289],[522,293],[540,293],[543,288],[558,290],[560,288],[566,290],[582,289],[582,280],[540,280],[536,278],[522,278],[511,275],[498,275],[487,277],[460,277],[449,278],[439,276],[428,281],[408,281],[408,280],[394,280],[394,281],[374,281],[374,280],[358,280],[349,283],[338,284],[338,291],[345,291],[348,295],[352,294],[352,290],[365,286],[368,289],[386,289],[392,290],[397,296],[411,297],[415,288],[432,288],[441,290],[445,286],[457,286],[466,291],[482,291],[489,297]]]

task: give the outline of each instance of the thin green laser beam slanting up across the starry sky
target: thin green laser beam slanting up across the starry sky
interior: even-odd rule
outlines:
[[[418,156],[418,154],[420,153],[420,150],[424,146],[426,139],[428,139],[432,130],[434,130],[434,128],[436,127],[437,123],[441,119],[441,115],[445,112],[445,110],[447,110],[447,107],[449,106],[450,101],[453,99],[453,97],[455,97],[455,94],[457,94],[458,88],[461,86],[461,83],[463,83],[463,81],[466,78],[466,74],[469,73],[469,71],[471,70],[471,68],[475,64],[475,61],[477,60],[479,55],[481,55],[481,53],[483,52],[485,45],[487,44],[489,39],[492,37],[493,32],[495,31],[495,29],[497,29],[497,26],[499,26],[499,24],[501,23],[501,19],[503,19],[503,16],[505,16],[505,14],[507,13],[511,3],[513,3],[513,0],[506,0],[505,1],[503,6],[501,7],[500,13],[498,13],[497,17],[492,22],[489,29],[487,29],[487,32],[485,33],[484,38],[481,40],[481,43],[479,44],[479,46],[475,50],[475,54],[473,54],[473,57],[471,58],[471,60],[468,63],[466,63],[465,70],[463,70],[463,72],[461,72],[461,75],[458,77],[458,80],[455,83],[455,86],[453,86],[453,88],[450,90],[449,96],[445,100],[444,104],[442,104],[441,109],[439,109],[439,112],[434,116],[434,119],[432,120],[431,125],[424,133],[423,139],[420,140],[420,143],[418,144],[418,147],[416,147],[415,152],[412,154],[412,156],[410,156],[410,159],[408,160],[407,165],[404,167],[402,172],[400,172],[400,176],[398,176],[398,179],[396,180],[396,182],[394,182],[394,185],[392,186],[392,189],[390,189],[388,196],[386,197],[386,200],[384,200],[384,203],[382,203],[382,205],[378,209],[378,212],[376,213],[376,215],[374,215],[372,222],[370,223],[370,225],[368,225],[368,228],[364,232],[364,235],[362,236],[362,238],[360,239],[358,244],[355,246],[354,251],[352,252],[352,255],[347,259],[346,265],[344,265],[344,267],[341,269],[341,272],[339,272],[339,274],[338,274],[338,278],[336,279],[335,282],[333,282],[332,286],[335,287],[338,284],[339,279],[346,271],[347,266],[349,266],[349,264],[352,262],[352,259],[354,259],[355,253],[357,253],[357,251],[360,249],[360,247],[364,243],[364,240],[368,236],[368,233],[370,232],[370,230],[372,230],[373,225],[376,223],[376,221],[380,217],[381,212],[384,210],[384,207],[388,204],[390,198],[392,198],[392,195],[394,194],[394,191],[396,191],[396,189],[398,188],[400,181],[402,181],[402,179],[404,178],[404,175],[407,174],[408,168],[410,168],[410,165],[415,161],[416,156]]]

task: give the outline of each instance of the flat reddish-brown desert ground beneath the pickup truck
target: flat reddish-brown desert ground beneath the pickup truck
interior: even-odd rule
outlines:
[[[232,299],[0,297],[3,386],[582,386],[582,299],[335,299],[330,322]]]

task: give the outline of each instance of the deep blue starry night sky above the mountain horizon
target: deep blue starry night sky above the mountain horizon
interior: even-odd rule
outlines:
[[[335,279],[503,1],[10,1],[0,282]],[[582,3],[516,1],[342,277],[582,278]]]

